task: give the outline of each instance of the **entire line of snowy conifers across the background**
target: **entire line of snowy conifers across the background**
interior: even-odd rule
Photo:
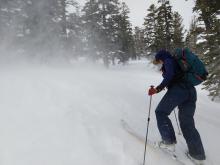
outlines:
[[[160,49],[189,47],[207,64],[205,88],[220,96],[220,2],[196,0],[185,30],[169,0],[150,5],[142,27],[132,28],[130,10],[119,0],[1,0],[0,57],[49,61],[85,57],[110,64],[153,57]],[[7,53],[3,53],[7,52]],[[16,52],[16,53],[15,53]],[[14,56],[16,54],[16,56]]]

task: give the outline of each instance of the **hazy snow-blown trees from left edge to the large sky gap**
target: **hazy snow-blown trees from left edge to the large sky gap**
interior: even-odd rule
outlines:
[[[135,58],[129,8],[118,0],[1,0],[0,51],[50,60]]]

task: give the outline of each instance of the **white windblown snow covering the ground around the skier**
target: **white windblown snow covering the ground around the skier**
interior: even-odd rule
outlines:
[[[146,89],[159,84],[160,73],[148,61],[109,70],[80,65],[1,66],[1,165],[142,163],[144,145],[121,127],[121,120],[145,134]],[[207,156],[219,165],[219,103],[211,102],[200,88],[196,125]],[[160,139],[154,109],[164,92],[153,97],[150,139]],[[178,145],[186,148],[184,141]],[[149,165],[177,164],[149,148],[146,159]]]

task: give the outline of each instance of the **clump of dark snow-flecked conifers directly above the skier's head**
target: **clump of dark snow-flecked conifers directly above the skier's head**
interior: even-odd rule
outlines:
[[[154,4],[149,7],[144,22],[148,54],[160,49],[172,51],[184,45],[184,27],[180,14],[172,11],[169,0],[158,2],[158,8]]]

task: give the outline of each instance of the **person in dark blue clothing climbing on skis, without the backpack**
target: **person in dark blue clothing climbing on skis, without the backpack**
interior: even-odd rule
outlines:
[[[180,127],[188,146],[187,154],[195,161],[203,162],[206,159],[205,151],[193,118],[197,100],[195,87],[184,80],[183,71],[168,51],[159,51],[155,55],[154,64],[162,64],[163,80],[156,88],[151,87],[148,94],[152,96],[164,88],[168,89],[155,110],[157,126],[162,137],[159,145],[162,148],[175,146],[176,136],[168,116],[178,107]]]

